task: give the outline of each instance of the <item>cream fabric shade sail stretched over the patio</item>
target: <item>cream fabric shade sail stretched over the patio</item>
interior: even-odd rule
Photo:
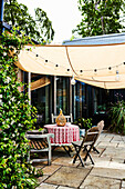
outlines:
[[[28,51],[28,49],[30,49]],[[125,43],[98,46],[28,46],[17,66],[29,72],[67,76],[105,88],[125,88]],[[96,70],[96,71],[95,71]],[[119,80],[116,81],[116,71]]]

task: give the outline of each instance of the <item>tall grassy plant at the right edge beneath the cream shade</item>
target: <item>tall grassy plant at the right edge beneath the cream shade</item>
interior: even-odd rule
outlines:
[[[110,109],[111,129],[117,133],[125,135],[125,101],[117,96],[117,102]]]

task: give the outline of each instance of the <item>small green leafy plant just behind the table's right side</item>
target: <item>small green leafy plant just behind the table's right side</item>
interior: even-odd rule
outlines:
[[[92,118],[79,118],[74,123],[79,125],[81,129],[90,129],[92,127]]]

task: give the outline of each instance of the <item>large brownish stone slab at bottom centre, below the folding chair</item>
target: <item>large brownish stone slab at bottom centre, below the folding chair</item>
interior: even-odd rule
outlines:
[[[79,169],[73,167],[62,167],[49,179],[46,179],[45,182],[77,188],[84,178],[88,175],[88,172],[90,169],[86,168]]]

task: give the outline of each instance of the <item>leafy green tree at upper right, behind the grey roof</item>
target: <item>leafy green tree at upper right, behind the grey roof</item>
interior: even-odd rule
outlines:
[[[124,0],[79,0],[83,19],[73,33],[82,37],[118,33],[125,28],[121,20],[124,4]]]

